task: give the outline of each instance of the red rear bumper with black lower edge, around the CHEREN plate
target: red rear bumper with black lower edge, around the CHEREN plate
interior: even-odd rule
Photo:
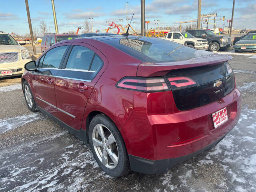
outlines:
[[[167,93],[166,93],[167,94]],[[142,96],[140,94],[140,96]],[[222,99],[192,110],[132,120],[121,133],[126,143],[131,170],[145,174],[163,173],[178,162],[210,149],[234,128],[240,117],[241,96],[237,88]],[[214,128],[212,113],[227,108],[228,121]],[[136,119],[142,113],[134,114]],[[134,129],[131,127],[134,126]]]

